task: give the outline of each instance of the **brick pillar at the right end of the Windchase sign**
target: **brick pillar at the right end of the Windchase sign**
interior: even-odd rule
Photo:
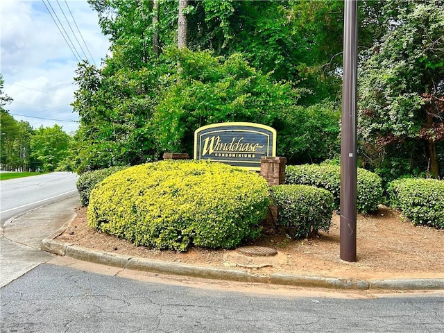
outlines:
[[[286,157],[261,157],[260,175],[266,179],[268,185],[276,186],[285,183]],[[263,222],[264,231],[273,233],[276,221],[278,221],[278,207],[270,205],[266,218]]]

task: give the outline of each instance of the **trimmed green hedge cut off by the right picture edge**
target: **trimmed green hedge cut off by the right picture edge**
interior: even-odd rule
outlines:
[[[444,228],[444,181],[424,178],[394,180],[388,187],[391,205],[415,225]]]

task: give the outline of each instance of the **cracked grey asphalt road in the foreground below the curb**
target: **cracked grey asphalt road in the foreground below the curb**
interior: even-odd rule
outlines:
[[[257,295],[42,264],[0,289],[1,332],[443,332],[438,297]]]

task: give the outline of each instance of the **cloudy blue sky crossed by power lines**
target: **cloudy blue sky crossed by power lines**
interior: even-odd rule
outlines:
[[[101,65],[108,53],[96,12],[86,0],[1,0],[0,22],[3,92],[14,99],[6,110],[34,128],[58,123],[67,133],[75,131],[78,115],[69,104],[79,56]]]

